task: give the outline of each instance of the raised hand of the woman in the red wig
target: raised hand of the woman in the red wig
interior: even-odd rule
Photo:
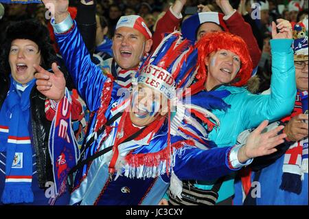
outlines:
[[[284,19],[277,19],[277,25],[273,21],[271,23],[271,35],[273,36],[273,39],[277,38],[293,38],[293,30],[292,25],[290,24],[290,21],[286,21]],[[279,32],[277,32],[277,28],[279,29]]]

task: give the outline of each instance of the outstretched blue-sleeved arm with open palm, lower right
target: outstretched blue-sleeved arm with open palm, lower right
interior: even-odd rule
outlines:
[[[251,132],[245,145],[209,150],[187,148],[181,156],[176,155],[174,173],[181,180],[213,181],[249,165],[255,157],[276,152],[275,147],[286,137],[285,134],[278,135],[284,126],[262,133],[267,125],[268,121],[262,122]]]

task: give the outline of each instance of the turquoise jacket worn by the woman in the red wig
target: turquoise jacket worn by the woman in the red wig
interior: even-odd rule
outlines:
[[[275,121],[293,111],[297,91],[292,43],[290,39],[271,40],[271,94],[255,95],[244,87],[221,86],[217,89],[231,92],[224,99],[227,104],[231,104],[231,108],[227,112],[213,111],[220,119],[220,127],[210,132],[209,139],[215,141],[218,147],[233,146],[243,130],[255,128],[265,119]],[[234,194],[233,183],[233,175],[227,176],[219,190],[217,202]],[[211,189],[213,184],[198,181],[196,187]]]

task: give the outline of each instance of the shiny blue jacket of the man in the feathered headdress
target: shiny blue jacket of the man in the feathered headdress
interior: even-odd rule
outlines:
[[[107,78],[92,62],[82,37],[76,27],[67,34],[56,34],[67,69],[76,84],[80,96],[87,102],[90,111],[96,112],[100,108],[100,97]],[[113,92],[106,119],[110,119],[117,112],[117,106],[122,106],[123,97],[117,96],[119,86],[113,83]],[[93,134],[93,127],[97,114],[89,126],[88,137]],[[120,119],[120,118],[119,118]],[[113,130],[102,143],[100,150],[113,145],[115,133],[119,124],[117,119],[112,125]],[[129,141],[133,153],[152,152],[159,144],[165,148],[167,141],[167,128],[163,126],[149,144],[139,141]],[[104,135],[104,133],[102,133]],[[93,141],[91,147],[84,152],[84,158],[91,156],[100,145],[102,135],[98,141]],[[87,141],[89,138],[87,138]],[[173,137],[172,142],[181,141],[179,137]],[[121,145],[121,144],[120,144]],[[181,156],[175,157],[174,173],[180,179],[196,178],[197,180],[214,180],[222,175],[229,174],[231,169],[227,163],[227,156],[231,148],[215,148],[214,150],[200,150],[195,147],[185,146],[181,150]],[[179,153],[180,154],[180,153]],[[128,178],[119,176],[116,181],[108,181],[108,156],[106,153],[91,164],[85,165],[76,176],[76,189],[71,195],[71,204],[81,205],[157,205],[163,194],[168,189],[170,178],[161,174],[155,178]],[[201,168],[203,167],[203,168]]]

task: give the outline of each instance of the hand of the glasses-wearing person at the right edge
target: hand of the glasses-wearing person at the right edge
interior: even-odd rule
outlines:
[[[308,115],[299,114],[290,119],[284,127],[284,133],[286,133],[290,141],[299,141],[304,137],[308,137]]]

